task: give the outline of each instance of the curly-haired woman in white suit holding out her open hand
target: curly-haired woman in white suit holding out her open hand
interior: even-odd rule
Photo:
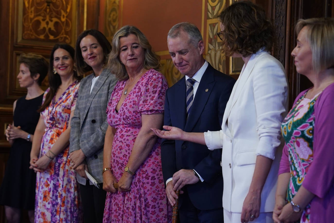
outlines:
[[[210,150],[223,148],[224,221],[272,222],[282,152],[280,126],[288,98],[284,68],[268,52],[274,28],[264,10],[250,1],[230,5],[219,21],[223,49],[245,63],[227,102],[222,130],[188,133],[170,126],[164,126],[169,131],[152,130],[162,138],[202,143]]]

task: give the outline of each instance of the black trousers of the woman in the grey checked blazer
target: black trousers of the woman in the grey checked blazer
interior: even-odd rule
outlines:
[[[86,185],[79,184],[85,223],[102,223],[107,192],[102,189],[103,184],[99,185],[100,189],[89,185],[89,180]]]

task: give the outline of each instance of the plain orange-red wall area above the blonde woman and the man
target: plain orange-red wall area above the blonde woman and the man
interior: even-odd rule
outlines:
[[[168,50],[167,33],[179,22],[202,26],[202,0],[123,0],[120,4],[120,27],[137,26],[155,51]]]

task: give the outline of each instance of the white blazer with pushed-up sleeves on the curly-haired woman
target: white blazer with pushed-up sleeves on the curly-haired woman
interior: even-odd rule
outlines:
[[[223,208],[241,213],[257,155],[273,159],[261,195],[260,212],[272,212],[281,159],[281,122],[288,106],[284,67],[259,50],[243,66],[227,102],[222,130],[206,132],[209,149],[222,148]],[[279,149],[278,149],[279,148]]]

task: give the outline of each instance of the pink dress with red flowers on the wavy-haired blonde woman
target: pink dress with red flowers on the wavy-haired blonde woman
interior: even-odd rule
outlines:
[[[136,137],[142,126],[142,114],[163,113],[167,83],[162,74],[151,69],[128,92],[120,110],[116,105],[123,94],[126,80],[117,82],[107,107],[108,123],[116,128],[111,166],[119,181]],[[170,222],[171,208],[161,168],[161,139],[139,166],[128,192],[108,193],[103,222]]]

